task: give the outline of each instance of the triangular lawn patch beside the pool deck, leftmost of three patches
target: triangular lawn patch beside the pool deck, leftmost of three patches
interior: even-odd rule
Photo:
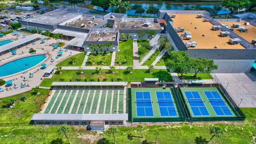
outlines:
[[[56,66],[82,66],[82,63],[84,61],[84,57],[85,57],[85,53],[79,53],[76,54],[74,56],[70,56],[68,58],[66,58],[65,60],[63,60],[62,62],[58,63]],[[76,57],[76,64],[72,64],[71,59],[72,57]],[[54,59],[54,60],[58,60],[58,59]]]

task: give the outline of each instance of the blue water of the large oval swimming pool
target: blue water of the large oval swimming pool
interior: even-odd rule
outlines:
[[[45,59],[46,59],[46,56],[44,56],[44,54],[39,54],[39,55],[19,58],[11,62],[8,62],[0,66],[0,77],[22,72],[24,70],[32,68],[33,66],[36,66],[37,64],[39,64]],[[25,64],[28,64],[28,66],[26,66]]]

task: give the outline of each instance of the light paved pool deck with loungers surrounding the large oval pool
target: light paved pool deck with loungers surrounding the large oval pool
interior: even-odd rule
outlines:
[[[22,36],[18,37],[19,39],[22,38]],[[42,39],[43,38],[48,38],[47,36],[42,36]],[[6,36],[3,36],[2,38],[0,38],[0,40],[6,40],[6,39],[16,39],[16,36],[12,36],[12,34],[7,34]],[[61,40],[62,42],[68,42],[67,40],[63,39]],[[29,48],[34,48],[36,50],[36,54],[48,54],[48,58],[46,58],[47,61],[43,61],[41,63],[39,63],[38,65],[26,70],[28,71],[27,73],[25,74],[22,74],[22,72],[19,72],[18,74],[13,74],[13,75],[10,75],[10,76],[5,76],[5,77],[1,77],[3,80],[7,81],[7,80],[13,80],[14,81],[12,82],[12,84],[16,84],[18,86],[18,88],[14,89],[13,86],[12,86],[12,90],[9,89],[9,91],[6,91],[6,87],[5,87],[5,84],[3,86],[0,86],[0,88],[4,89],[4,92],[0,92],[0,98],[5,98],[5,97],[8,97],[8,96],[13,96],[13,95],[16,95],[16,94],[21,94],[23,92],[27,92],[29,90],[31,90],[31,88],[34,88],[35,86],[39,86],[40,83],[42,82],[41,78],[44,78],[43,75],[44,75],[44,70],[39,70],[38,72],[34,73],[33,74],[33,78],[29,78],[29,73],[32,73],[34,72],[35,70],[37,70],[38,68],[40,69],[41,68],[41,64],[42,63],[46,63],[47,65],[49,65],[51,62],[50,62],[50,58],[54,58],[54,62],[52,62],[52,66],[55,66],[56,64],[58,64],[58,62],[56,62],[58,59],[56,59],[55,57],[58,55],[58,49],[55,49],[54,51],[52,51],[52,46],[45,46],[46,44],[52,44],[52,43],[56,43],[56,40],[54,39],[50,39],[50,40],[46,40],[44,42],[44,44],[40,44],[40,40],[38,41],[35,41],[35,44],[32,45],[32,44],[28,44],[27,46]],[[15,60],[17,58],[22,58],[22,57],[26,57],[26,56],[32,56],[33,54],[30,54],[28,53],[28,50],[29,48],[26,48],[26,46],[23,46],[21,48],[18,48],[17,51],[16,51],[16,55],[10,57],[10,58],[6,58],[6,56],[10,56],[12,53],[11,52],[8,52],[2,56],[0,56],[0,59],[2,60],[2,64],[5,64],[6,62],[10,62],[12,60]],[[44,50],[42,50],[42,48],[44,48],[44,50],[50,50],[49,52],[46,52]],[[64,47],[65,48],[65,47]],[[63,47],[62,47],[63,49]],[[16,50],[16,49],[15,49]],[[24,52],[24,54],[20,54],[20,52]],[[70,52],[72,52],[72,55],[74,54],[78,54],[80,53],[79,51],[77,50],[68,50],[67,52],[64,52],[62,53],[62,57],[65,57],[65,56],[68,56],[70,55]],[[3,60],[2,58],[4,58],[5,60]],[[23,81],[23,77],[25,76],[27,81],[24,82]],[[17,79],[16,79],[17,78]],[[27,87],[25,86],[25,88],[20,88],[20,83],[24,84],[29,84],[30,87]]]

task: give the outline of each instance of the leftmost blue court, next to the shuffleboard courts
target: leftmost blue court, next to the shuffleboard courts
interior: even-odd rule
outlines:
[[[154,116],[150,92],[136,92],[137,116]]]

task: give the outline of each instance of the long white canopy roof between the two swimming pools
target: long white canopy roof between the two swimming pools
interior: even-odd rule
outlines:
[[[16,46],[20,46],[22,44],[25,44],[26,42],[31,42],[32,40],[35,40],[36,38],[40,38],[41,36],[42,36],[41,34],[33,34],[31,36],[26,36],[25,38],[15,40],[14,42],[11,42],[9,44],[0,46],[0,52],[4,52],[4,51],[14,48]]]

